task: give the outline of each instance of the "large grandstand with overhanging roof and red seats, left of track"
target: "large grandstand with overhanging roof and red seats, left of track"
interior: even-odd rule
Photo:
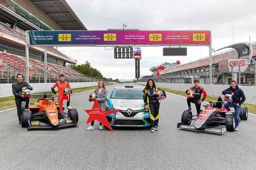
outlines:
[[[0,0],[0,83],[12,83],[16,74],[26,70],[26,30],[87,30],[65,0]],[[47,51],[47,82],[56,81],[59,74],[69,81],[91,81],[70,69],[76,60],[54,47],[30,47],[30,82],[44,82]],[[24,74],[25,75],[25,74]]]

